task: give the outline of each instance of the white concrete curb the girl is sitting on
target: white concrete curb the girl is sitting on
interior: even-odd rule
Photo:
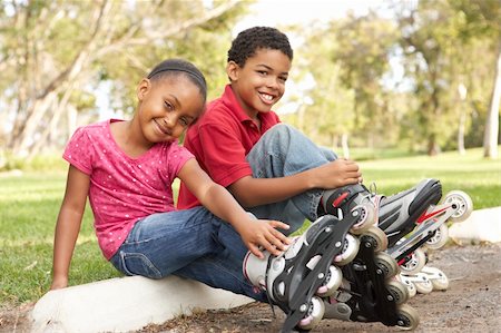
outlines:
[[[32,332],[129,332],[194,308],[229,308],[252,298],[168,276],[117,277],[43,295],[31,312]]]

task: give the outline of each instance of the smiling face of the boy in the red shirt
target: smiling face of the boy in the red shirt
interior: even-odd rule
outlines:
[[[291,59],[279,50],[259,49],[243,67],[229,61],[226,68],[233,91],[250,118],[267,112],[282,98]]]

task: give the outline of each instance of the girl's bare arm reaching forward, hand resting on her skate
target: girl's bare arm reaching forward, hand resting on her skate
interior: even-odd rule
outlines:
[[[210,179],[195,158],[185,163],[178,177],[207,209],[233,225],[244,244],[256,256],[263,257],[259,246],[279,255],[281,251],[291,244],[291,241],[276,229],[287,229],[288,225],[278,221],[253,218],[226,188]]]

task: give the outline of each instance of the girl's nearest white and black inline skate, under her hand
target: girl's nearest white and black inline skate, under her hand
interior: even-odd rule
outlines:
[[[348,232],[363,224],[365,213],[358,206],[343,218],[320,217],[281,256],[264,252],[265,258],[259,259],[247,253],[244,275],[284,311],[283,332],[312,330],[323,319],[321,297],[332,295],[341,284],[341,271],[333,259],[350,262],[356,256],[358,242]]]

